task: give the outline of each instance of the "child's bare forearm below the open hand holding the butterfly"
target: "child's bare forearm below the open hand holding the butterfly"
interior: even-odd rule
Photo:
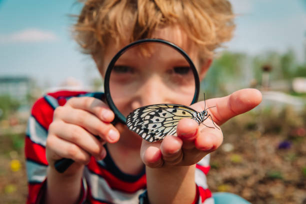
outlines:
[[[149,202],[192,203],[196,194],[194,171],[195,165],[146,167]]]

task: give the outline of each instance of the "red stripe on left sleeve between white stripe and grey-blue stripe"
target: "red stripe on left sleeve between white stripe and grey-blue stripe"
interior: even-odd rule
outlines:
[[[43,163],[45,165],[48,164],[45,158],[45,148],[39,144],[32,142],[28,136],[25,137],[24,151],[26,158],[37,161],[39,163]]]

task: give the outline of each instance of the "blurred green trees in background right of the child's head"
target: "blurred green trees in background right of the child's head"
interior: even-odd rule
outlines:
[[[294,77],[306,77],[306,60],[298,61],[291,49],[284,53],[268,51],[254,56],[225,51],[214,59],[201,88],[213,97],[252,87],[251,82],[258,86],[264,65],[271,67],[270,80],[285,80],[289,84]]]

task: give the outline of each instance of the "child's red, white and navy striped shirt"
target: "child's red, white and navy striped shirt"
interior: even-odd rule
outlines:
[[[33,105],[25,137],[26,172],[28,180],[27,203],[38,203],[44,196],[47,160],[45,143],[53,111],[64,105],[70,97],[90,96],[102,99],[101,92],[57,91],[47,93]],[[106,146],[105,146],[106,147]],[[106,148],[107,151],[107,148]],[[193,203],[213,203],[207,188],[206,174],[209,170],[209,154],[196,164],[196,196]],[[140,203],[145,197],[145,168],[138,175],[123,173],[107,153],[103,160],[91,157],[80,181],[82,194],[79,203]],[[141,194],[141,196],[139,196]]]

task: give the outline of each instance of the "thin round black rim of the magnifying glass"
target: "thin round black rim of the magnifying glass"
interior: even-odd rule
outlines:
[[[112,70],[112,67],[114,65],[114,63],[117,61],[117,59],[130,47],[133,47],[135,45],[141,44],[141,43],[145,43],[145,42],[159,42],[159,43],[163,43],[166,44],[168,46],[171,46],[172,48],[174,48],[176,51],[178,51],[180,54],[183,55],[183,57],[188,61],[188,63],[190,64],[190,67],[192,69],[193,72],[193,76],[194,76],[194,82],[195,82],[195,90],[194,90],[194,95],[193,95],[193,99],[191,101],[190,104],[193,104],[194,102],[197,101],[198,99],[198,93],[199,93],[199,78],[198,78],[198,74],[196,71],[196,68],[192,62],[192,60],[190,59],[190,57],[188,56],[188,54],[179,46],[173,44],[172,42],[166,41],[164,39],[159,39],[159,38],[146,38],[146,39],[140,39],[137,41],[134,41],[126,46],[124,46],[122,49],[120,49],[116,55],[114,55],[114,57],[111,59],[111,61],[109,62],[106,72],[105,72],[105,78],[104,78],[104,94],[106,97],[106,101],[107,104],[109,105],[110,109],[114,112],[114,114],[117,116],[117,118],[120,120],[120,122],[122,123],[126,123],[126,118],[125,116],[118,110],[118,108],[115,106],[111,95],[110,95],[110,90],[109,90],[109,77],[110,77],[110,73]]]

